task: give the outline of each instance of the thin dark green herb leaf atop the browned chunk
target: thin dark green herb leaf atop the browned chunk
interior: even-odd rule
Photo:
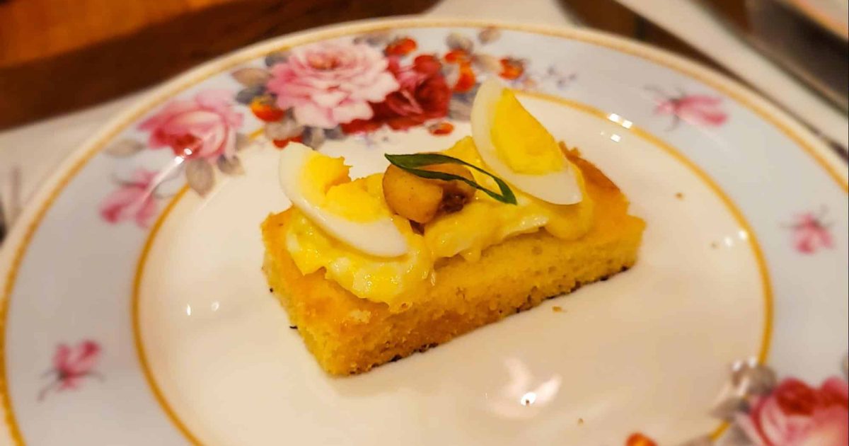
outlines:
[[[507,185],[507,183],[504,183],[501,178],[492,175],[492,173],[490,172],[486,172],[480,167],[473,166],[466,161],[458,160],[453,156],[441,155],[438,153],[417,153],[413,155],[385,155],[385,157],[396,167],[410,172],[417,177],[441,179],[446,181],[462,181],[466,184],[469,184],[469,186],[475,189],[482,190],[486,193],[486,195],[489,195],[495,200],[501,201],[502,203],[507,203],[510,205],[516,204],[516,195],[513,195],[513,191],[510,190],[510,187]],[[470,180],[469,178],[464,178],[459,175],[454,175],[453,173],[433,172],[424,169],[419,169],[419,167],[433,166],[434,164],[461,164],[465,167],[475,169],[476,171],[481,172],[495,180],[495,183],[498,184],[498,189],[501,190],[501,194],[493,192],[490,189],[486,189],[485,187],[481,186],[481,184],[475,183],[474,180]]]

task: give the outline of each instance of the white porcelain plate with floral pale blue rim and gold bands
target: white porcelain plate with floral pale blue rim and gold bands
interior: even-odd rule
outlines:
[[[325,375],[260,271],[259,223],[289,206],[279,151],[362,176],[445,149],[487,76],[627,194],[637,265]],[[846,444],[846,189],[846,164],[764,100],[593,31],[386,20],[261,43],[115,118],[14,227],[3,438]]]

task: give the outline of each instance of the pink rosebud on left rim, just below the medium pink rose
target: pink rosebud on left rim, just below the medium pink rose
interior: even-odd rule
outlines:
[[[100,204],[100,217],[109,223],[134,220],[141,228],[147,228],[156,214],[153,184],[157,172],[143,168],[132,173],[130,181],[108,195]]]

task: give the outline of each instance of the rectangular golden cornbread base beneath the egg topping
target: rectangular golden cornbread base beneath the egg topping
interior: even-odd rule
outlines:
[[[627,198],[597,167],[576,152],[570,159],[595,203],[592,229],[578,240],[541,229],[490,246],[477,262],[442,259],[438,279],[422,284],[429,296],[392,313],[325,279],[323,269],[301,274],[285,246],[286,211],[262,223],[268,284],[318,364],[333,375],[352,375],[607,279],[637,260],[645,223],[628,215]]]

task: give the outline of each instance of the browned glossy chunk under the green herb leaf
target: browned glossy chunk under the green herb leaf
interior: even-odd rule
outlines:
[[[468,168],[458,164],[435,164],[421,169],[474,179]],[[421,178],[390,165],[383,175],[383,195],[392,212],[424,224],[463,209],[475,196],[475,188],[457,180]]]

